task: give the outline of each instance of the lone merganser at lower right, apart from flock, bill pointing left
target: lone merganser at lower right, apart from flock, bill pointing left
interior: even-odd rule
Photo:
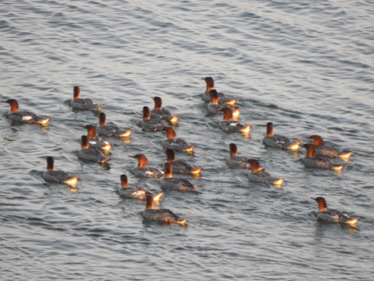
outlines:
[[[316,217],[320,220],[328,221],[329,223],[344,223],[344,224],[355,224],[359,218],[350,218],[349,215],[337,211],[337,210],[326,210],[326,200],[324,197],[311,198],[318,203],[318,211],[316,211]]]

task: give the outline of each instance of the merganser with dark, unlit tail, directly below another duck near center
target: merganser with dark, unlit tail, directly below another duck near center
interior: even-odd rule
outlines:
[[[197,187],[191,184],[187,179],[173,178],[173,166],[170,163],[164,163],[165,174],[160,181],[163,190],[177,190],[191,193],[200,193]]]

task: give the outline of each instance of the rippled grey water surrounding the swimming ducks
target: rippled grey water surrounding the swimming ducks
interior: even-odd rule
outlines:
[[[0,1],[0,98],[53,118],[43,128],[0,116],[1,280],[372,280],[373,23],[374,1]],[[207,115],[205,76],[239,100],[249,138]],[[98,118],[71,110],[75,85],[134,129],[110,140],[109,169],[76,156],[81,126]],[[160,191],[130,173],[128,157],[166,159],[164,135],[138,127],[154,96],[196,145],[176,158],[204,168],[185,176],[202,194],[161,199],[186,227],[143,221],[144,202],[117,194],[122,173]],[[306,169],[304,149],[264,147],[270,121],[277,134],[355,153],[335,160],[341,173]],[[232,142],[285,177],[282,188],[226,167]],[[47,156],[81,177],[77,191],[42,179]],[[358,227],[316,221],[317,196]]]

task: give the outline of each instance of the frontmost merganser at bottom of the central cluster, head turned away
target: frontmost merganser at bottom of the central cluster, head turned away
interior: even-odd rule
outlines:
[[[178,217],[169,209],[153,209],[153,197],[147,195],[145,209],[142,212],[143,218],[147,220],[165,221],[171,224],[185,225],[188,220]]]

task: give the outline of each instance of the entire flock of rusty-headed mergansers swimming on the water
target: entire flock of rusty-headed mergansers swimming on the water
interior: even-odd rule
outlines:
[[[214,89],[214,80],[211,77],[202,78],[206,82],[206,91],[202,95],[207,105],[209,114],[223,114],[223,120],[218,122],[218,127],[226,133],[239,132],[243,135],[249,133],[252,129],[251,125],[243,125],[237,121],[240,110],[237,109],[235,103],[236,99],[232,99],[223,93],[218,93]],[[165,132],[166,138],[161,142],[167,161],[164,163],[164,170],[159,170],[154,167],[148,166],[148,160],[143,154],[136,154],[129,156],[138,161],[137,167],[132,168],[130,171],[136,176],[146,178],[159,179],[163,191],[177,190],[182,192],[200,193],[195,185],[184,178],[177,178],[173,176],[174,173],[199,175],[202,170],[201,167],[194,167],[188,163],[180,160],[175,160],[175,153],[184,151],[193,153],[195,146],[188,144],[180,138],[176,138],[176,133],[173,125],[177,124],[179,116],[172,115],[169,111],[162,108],[162,100],[160,97],[153,97],[154,109],[150,110],[147,106],[143,107],[143,118],[140,121],[140,126],[145,132],[162,131]],[[10,112],[6,113],[6,117],[18,123],[37,123],[46,125],[52,118],[43,118],[29,111],[18,111],[18,102],[15,99],[2,101],[10,105]],[[100,111],[103,104],[96,104],[91,99],[81,99],[80,89],[75,86],[73,89],[73,99],[70,101],[70,106],[74,110],[89,110]],[[77,156],[84,161],[93,161],[99,163],[107,163],[109,158],[105,155],[112,144],[96,135],[103,137],[128,137],[133,130],[121,129],[114,124],[107,125],[106,116],[103,112],[99,113],[99,124],[95,127],[92,125],[83,126],[87,130],[87,135],[81,137],[81,149],[78,151]],[[306,167],[331,169],[340,171],[344,165],[336,165],[329,158],[338,157],[347,159],[353,152],[343,152],[324,144],[322,138],[318,135],[305,137],[310,139],[313,143],[302,145],[301,140],[295,142],[290,141],[285,136],[274,135],[273,124],[267,123],[266,136],[263,138],[263,143],[266,146],[272,146],[280,149],[289,149],[296,151],[300,146],[304,147],[307,151],[306,156],[302,158],[302,162]],[[245,156],[237,156],[237,146],[234,143],[229,145],[230,155],[226,158],[226,164],[231,167],[238,167],[248,169],[247,174],[249,181],[260,182],[266,184],[273,184],[277,187],[282,186],[285,178],[277,178],[265,172],[264,168],[260,166],[257,160]],[[103,153],[104,152],[104,153]],[[328,157],[328,158],[327,158]],[[47,170],[42,174],[43,179],[47,182],[57,182],[59,184],[68,184],[75,187],[76,182],[79,180],[78,176],[71,176],[68,173],[60,170],[54,170],[53,157],[47,157]],[[153,195],[150,191],[139,188],[129,187],[128,179],[125,174],[120,176],[121,186],[118,193],[121,196],[131,197],[135,199],[145,200],[145,209],[142,216],[148,220],[164,221],[172,224],[185,225],[188,220],[178,217],[174,212],[169,209],[153,209],[154,201],[159,200],[164,193]],[[318,211],[316,217],[318,219],[354,225],[359,218],[350,218],[347,214],[336,211],[327,210],[326,201],[323,197],[312,198],[318,203]]]

